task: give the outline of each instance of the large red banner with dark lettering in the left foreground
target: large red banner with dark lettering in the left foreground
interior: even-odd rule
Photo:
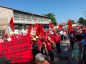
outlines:
[[[31,62],[33,59],[31,40],[22,36],[10,42],[0,43],[0,57],[6,57],[11,63]]]

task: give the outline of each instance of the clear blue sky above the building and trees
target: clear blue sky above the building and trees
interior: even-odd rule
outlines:
[[[0,0],[0,6],[36,14],[54,13],[57,22],[85,17],[86,0]]]

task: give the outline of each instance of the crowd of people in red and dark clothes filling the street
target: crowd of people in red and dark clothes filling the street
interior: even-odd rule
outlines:
[[[54,29],[50,25],[49,29],[44,30],[41,24],[31,25],[28,27],[28,33],[31,38],[33,51],[33,61],[36,64],[53,64],[55,60],[54,50],[57,54],[62,54],[61,43],[65,39],[70,39],[71,58],[75,63],[86,64],[86,26],[80,29]],[[14,36],[19,37],[14,34]],[[0,43],[10,41],[12,36],[5,34],[0,38]]]

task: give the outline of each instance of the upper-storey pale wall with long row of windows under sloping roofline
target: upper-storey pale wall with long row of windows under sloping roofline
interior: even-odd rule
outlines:
[[[14,11],[14,21],[20,24],[49,24],[51,19]]]

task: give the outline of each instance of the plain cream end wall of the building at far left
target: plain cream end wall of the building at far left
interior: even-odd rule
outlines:
[[[5,30],[5,33],[10,32],[9,22],[12,16],[12,10],[0,7],[0,30]]]

